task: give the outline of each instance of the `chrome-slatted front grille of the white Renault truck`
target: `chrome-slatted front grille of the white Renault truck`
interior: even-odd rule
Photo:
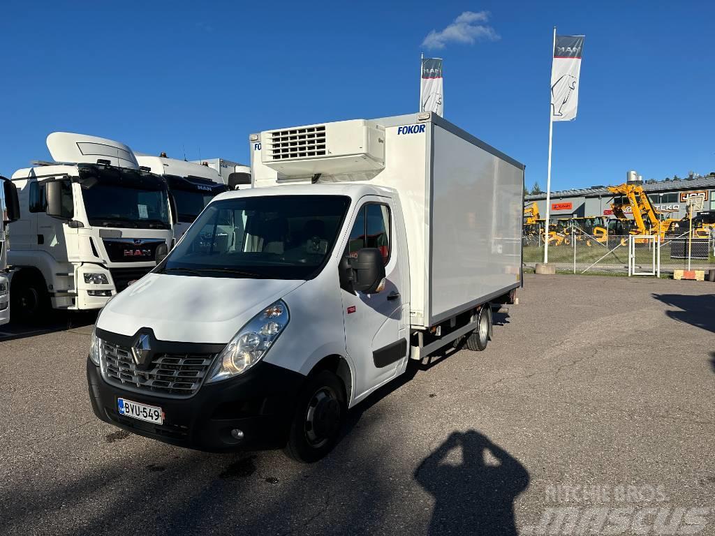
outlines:
[[[157,354],[146,370],[134,362],[132,350],[102,341],[104,377],[108,382],[137,392],[190,397],[201,387],[213,354]]]

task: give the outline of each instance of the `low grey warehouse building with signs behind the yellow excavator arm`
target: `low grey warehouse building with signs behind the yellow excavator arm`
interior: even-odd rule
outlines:
[[[654,208],[663,217],[681,219],[687,215],[687,199],[691,196],[704,197],[703,210],[715,210],[715,173],[704,177],[687,179],[666,179],[642,183]],[[611,217],[613,194],[605,186],[551,192],[550,219],[606,216]],[[541,218],[546,217],[546,193],[528,194],[524,197],[525,207],[536,202]]]

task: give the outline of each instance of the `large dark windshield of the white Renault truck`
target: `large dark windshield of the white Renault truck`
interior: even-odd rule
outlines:
[[[350,198],[287,195],[223,199],[209,206],[159,273],[312,279],[327,262]]]

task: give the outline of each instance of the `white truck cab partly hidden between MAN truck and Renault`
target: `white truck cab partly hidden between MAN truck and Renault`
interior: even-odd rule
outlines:
[[[159,157],[142,153],[134,154],[140,169],[161,175],[167,182],[169,199],[175,214],[175,240],[183,236],[211,199],[228,190],[223,177],[208,166],[167,158],[164,153]]]

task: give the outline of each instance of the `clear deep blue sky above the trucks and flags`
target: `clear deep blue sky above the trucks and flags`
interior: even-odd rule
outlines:
[[[488,11],[473,43],[446,39]],[[445,117],[546,186],[551,31],[586,34],[578,117],[554,124],[552,189],[715,171],[711,1],[19,2],[0,17],[0,174],[51,131],[247,161],[248,134],[416,111],[444,58]]]

